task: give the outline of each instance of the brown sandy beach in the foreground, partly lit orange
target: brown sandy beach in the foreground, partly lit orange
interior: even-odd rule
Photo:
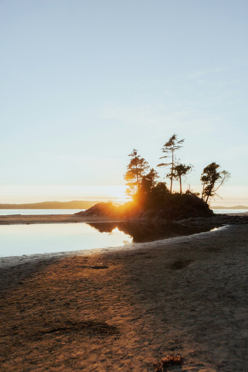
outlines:
[[[1,258],[0,370],[247,371],[247,232]]]

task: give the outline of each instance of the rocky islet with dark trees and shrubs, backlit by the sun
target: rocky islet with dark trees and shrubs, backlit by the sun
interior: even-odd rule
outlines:
[[[127,181],[126,194],[132,196],[132,201],[114,207],[112,203],[98,203],[83,215],[114,217],[122,219],[146,219],[155,221],[179,221],[187,218],[212,217],[213,211],[209,209],[207,202],[216,191],[228,180],[230,173],[220,170],[220,166],[211,163],[204,168],[201,182],[203,183],[202,198],[199,193],[194,193],[190,187],[185,193],[182,192],[182,179],[192,171],[193,165],[183,164],[176,159],[175,151],[182,147],[184,140],[177,140],[173,134],[164,144],[162,151],[165,156],[171,158],[170,163],[160,163],[158,167],[170,167],[167,177],[170,178],[170,190],[165,182],[158,181],[158,172],[151,168],[148,162],[137,154],[138,150],[133,149],[128,156],[131,160],[124,174]],[[149,170],[149,171],[148,171]],[[172,190],[173,179],[180,182],[180,192]]]

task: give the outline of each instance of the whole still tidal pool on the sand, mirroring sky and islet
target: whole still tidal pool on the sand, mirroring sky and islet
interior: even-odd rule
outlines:
[[[127,222],[0,225],[0,256],[128,246],[209,230],[176,224],[140,225]]]

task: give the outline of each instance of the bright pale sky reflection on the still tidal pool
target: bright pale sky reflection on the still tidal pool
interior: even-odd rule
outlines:
[[[118,228],[99,232],[87,224],[1,225],[0,256],[117,247],[132,243]]]

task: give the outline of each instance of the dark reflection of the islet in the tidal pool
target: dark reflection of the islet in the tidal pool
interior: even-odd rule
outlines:
[[[130,235],[133,238],[133,243],[192,235],[212,229],[210,227],[188,227],[177,224],[138,222],[93,222],[87,225],[94,227],[99,232],[108,232],[109,234],[117,227],[119,231],[124,232],[126,235]]]

